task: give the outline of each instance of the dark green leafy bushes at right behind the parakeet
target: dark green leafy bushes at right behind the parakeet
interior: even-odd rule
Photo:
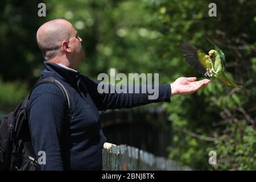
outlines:
[[[216,1],[217,17],[208,16],[210,1],[152,2],[150,25],[163,36],[156,50],[164,75],[195,76],[179,50],[188,39],[205,52],[212,45],[209,36],[225,52],[228,77],[249,88],[252,94],[224,86],[212,79],[204,89],[190,96],[175,96],[168,107],[175,130],[170,159],[197,169],[256,169],[255,167],[255,2]],[[242,12],[237,15],[237,12]],[[159,63],[161,64],[161,63]],[[161,67],[161,66],[160,66]],[[232,77],[232,75],[234,77]],[[184,132],[189,131],[189,132]],[[195,135],[194,134],[199,134]],[[215,138],[215,142],[203,137]],[[217,152],[217,165],[208,164],[208,152]],[[250,161],[250,162],[249,162]]]

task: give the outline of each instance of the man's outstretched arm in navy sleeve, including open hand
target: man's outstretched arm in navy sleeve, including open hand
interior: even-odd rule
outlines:
[[[158,85],[159,95],[155,100],[148,99],[149,93],[98,93],[97,87],[98,83],[94,82],[89,77],[84,77],[84,81],[89,89],[89,94],[92,97],[94,103],[96,104],[98,110],[106,109],[121,109],[121,108],[130,108],[135,106],[141,106],[150,104],[153,102],[170,102],[171,95],[176,94],[189,94],[196,92],[204,85],[208,84],[210,80],[201,80],[196,81],[196,77],[177,78],[172,84],[162,84]],[[114,85],[106,85],[106,88],[113,87]],[[133,90],[135,89],[134,86]],[[126,86],[126,89],[129,90],[129,86]],[[111,90],[111,89],[109,89]],[[141,90],[141,86],[139,86]]]

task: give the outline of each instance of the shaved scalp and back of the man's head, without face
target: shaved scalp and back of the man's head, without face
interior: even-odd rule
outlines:
[[[36,41],[44,59],[52,59],[61,53],[61,42],[71,38],[72,24],[64,19],[44,23],[36,34]]]

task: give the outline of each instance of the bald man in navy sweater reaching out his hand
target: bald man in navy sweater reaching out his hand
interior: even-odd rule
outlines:
[[[170,102],[171,95],[196,92],[209,80],[178,78],[172,84],[159,85],[159,97],[148,100],[148,93],[98,93],[97,82],[76,71],[84,59],[82,39],[71,23],[55,19],[44,23],[36,34],[46,61],[40,78],[55,77],[72,97],[72,117],[67,119],[67,105],[54,84],[36,87],[28,102],[28,119],[35,154],[46,152],[46,164],[40,170],[100,170],[102,147],[106,141],[98,111]],[[68,121],[66,121],[68,120]]]

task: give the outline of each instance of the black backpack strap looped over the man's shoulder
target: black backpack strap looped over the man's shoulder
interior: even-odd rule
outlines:
[[[39,80],[38,82],[36,82],[35,86],[32,88],[32,90],[30,92],[30,95],[28,96],[28,100],[30,99],[31,93],[36,88],[36,86],[39,86],[39,85],[42,85],[42,84],[46,84],[46,83],[55,84],[55,85],[57,85],[61,89],[61,92],[63,93],[64,98],[65,98],[65,102],[68,104],[69,114],[71,114],[70,112],[72,111],[72,101],[71,101],[71,97],[70,97],[70,94],[69,94],[68,90],[65,89],[63,84],[61,84],[54,77],[51,77],[51,76],[44,77],[41,80]]]

